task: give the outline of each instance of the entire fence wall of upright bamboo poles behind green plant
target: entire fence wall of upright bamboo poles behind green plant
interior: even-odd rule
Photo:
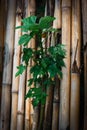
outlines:
[[[0,0],[0,130],[87,130],[86,12],[87,0]],[[67,51],[62,80],[56,78],[46,105],[35,109],[30,99],[24,100],[33,63],[15,78],[23,49],[18,46],[22,32],[15,26],[32,14],[56,17],[53,27],[60,29],[60,36],[49,36],[47,43],[55,45],[59,39]],[[36,48],[36,41],[29,45]]]

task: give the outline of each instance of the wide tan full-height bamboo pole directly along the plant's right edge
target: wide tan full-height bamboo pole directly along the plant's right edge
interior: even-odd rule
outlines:
[[[60,84],[59,130],[69,129],[70,99],[70,39],[71,39],[71,0],[62,0],[62,43],[66,48],[63,78]]]

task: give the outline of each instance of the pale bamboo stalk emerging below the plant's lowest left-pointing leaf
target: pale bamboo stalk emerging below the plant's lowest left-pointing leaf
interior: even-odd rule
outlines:
[[[24,97],[25,97],[26,72],[20,76],[19,94],[18,94],[18,111],[17,111],[17,130],[24,129]]]

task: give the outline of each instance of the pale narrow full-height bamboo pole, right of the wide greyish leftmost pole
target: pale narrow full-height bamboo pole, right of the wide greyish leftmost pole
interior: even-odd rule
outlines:
[[[17,0],[16,5],[16,25],[21,25],[22,7],[21,0]],[[20,46],[18,46],[18,40],[21,36],[21,30],[15,30],[15,43],[14,43],[14,59],[13,59],[13,79],[12,79],[12,103],[11,103],[11,130],[17,129],[17,107],[18,107],[18,87],[19,77],[15,78],[17,72],[17,66],[20,64]],[[15,107],[14,107],[15,106]]]

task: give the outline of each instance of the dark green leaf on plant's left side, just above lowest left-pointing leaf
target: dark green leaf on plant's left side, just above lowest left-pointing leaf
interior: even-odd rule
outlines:
[[[28,65],[29,59],[32,58],[33,50],[31,48],[23,48],[22,60]]]

